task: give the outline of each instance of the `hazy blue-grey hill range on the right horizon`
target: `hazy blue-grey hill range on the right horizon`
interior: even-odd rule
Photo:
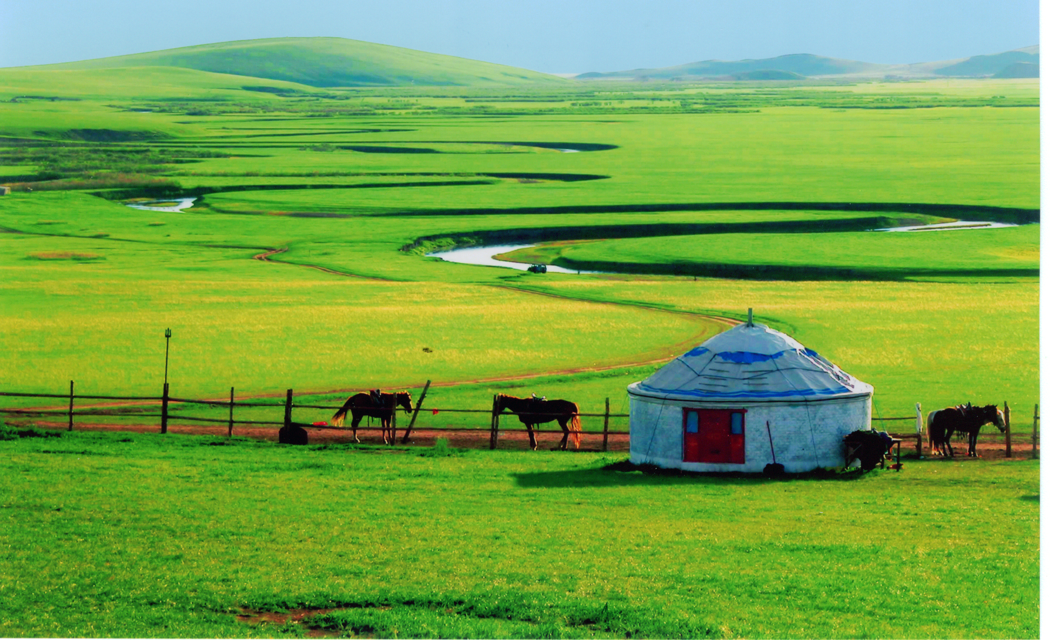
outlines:
[[[779,56],[777,58],[764,58],[761,60],[738,60],[729,62],[723,60],[707,60],[704,62],[692,62],[689,64],[673,67],[662,67],[655,69],[630,69],[626,71],[609,71],[581,73],[576,80],[786,80],[798,77],[816,78],[883,78],[891,76],[895,78],[936,78],[938,76],[968,76],[984,77],[994,76],[1004,71],[1007,67],[1015,63],[1034,64],[1038,66],[1038,45],[1014,49],[993,56],[973,56],[972,58],[960,60],[944,60],[939,62],[922,62],[915,64],[877,64],[872,62],[859,62],[856,60],[842,60],[839,58],[824,58],[810,54],[796,54],[792,56]],[[1030,67],[1020,67],[1021,70],[1011,72],[1025,72],[1024,69]],[[775,72],[792,74],[774,77]],[[760,76],[768,78],[760,78]],[[1032,76],[1002,76],[1003,78],[1030,78]],[[1037,77],[1037,76],[1034,76]]]

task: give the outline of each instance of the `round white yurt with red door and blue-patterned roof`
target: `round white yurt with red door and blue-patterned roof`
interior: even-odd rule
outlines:
[[[642,382],[631,462],[689,471],[799,473],[845,463],[843,436],[872,425],[875,388],[792,337],[751,320]]]

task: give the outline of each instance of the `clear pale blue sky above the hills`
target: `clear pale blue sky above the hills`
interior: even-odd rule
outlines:
[[[546,72],[817,54],[879,63],[1038,43],[1038,0],[0,0],[0,67],[335,36]]]

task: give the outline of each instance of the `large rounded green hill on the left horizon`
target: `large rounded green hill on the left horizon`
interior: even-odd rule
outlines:
[[[270,38],[165,49],[20,70],[181,67],[312,87],[508,86],[565,79],[488,62],[344,38]]]

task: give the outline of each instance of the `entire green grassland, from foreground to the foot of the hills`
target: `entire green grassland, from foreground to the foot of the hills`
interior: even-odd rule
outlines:
[[[176,394],[327,404],[434,380],[461,384],[430,406],[534,391],[623,411],[650,361],[718,330],[707,316],[754,307],[874,384],[877,415],[1036,402],[1037,225],[862,231],[1037,220],[1035,82],[308,95],[170,67],[147,90],[117,80],[143,69],[84,71],[109,76],[69,85],[78,101],[0,102],[0,184],[21,189],[0,198],[0,390],[156,394],[171,327]],[[33,73],[0,70],[0,99],[25,94],[18,78],[62,97],[59,71]],[[181,194],[192,209],[123,206]],[[508,238],[559,242],[527,259],[643,273],[422,255]],[[659,275],[690,264],[802,277]],[[0,442],[0,635],[302,633],[245,627],[243,606],[341,607],[319,623],[377,636],[1037,633],[1033,463],[770,484],[593,454],[212,445]]]

